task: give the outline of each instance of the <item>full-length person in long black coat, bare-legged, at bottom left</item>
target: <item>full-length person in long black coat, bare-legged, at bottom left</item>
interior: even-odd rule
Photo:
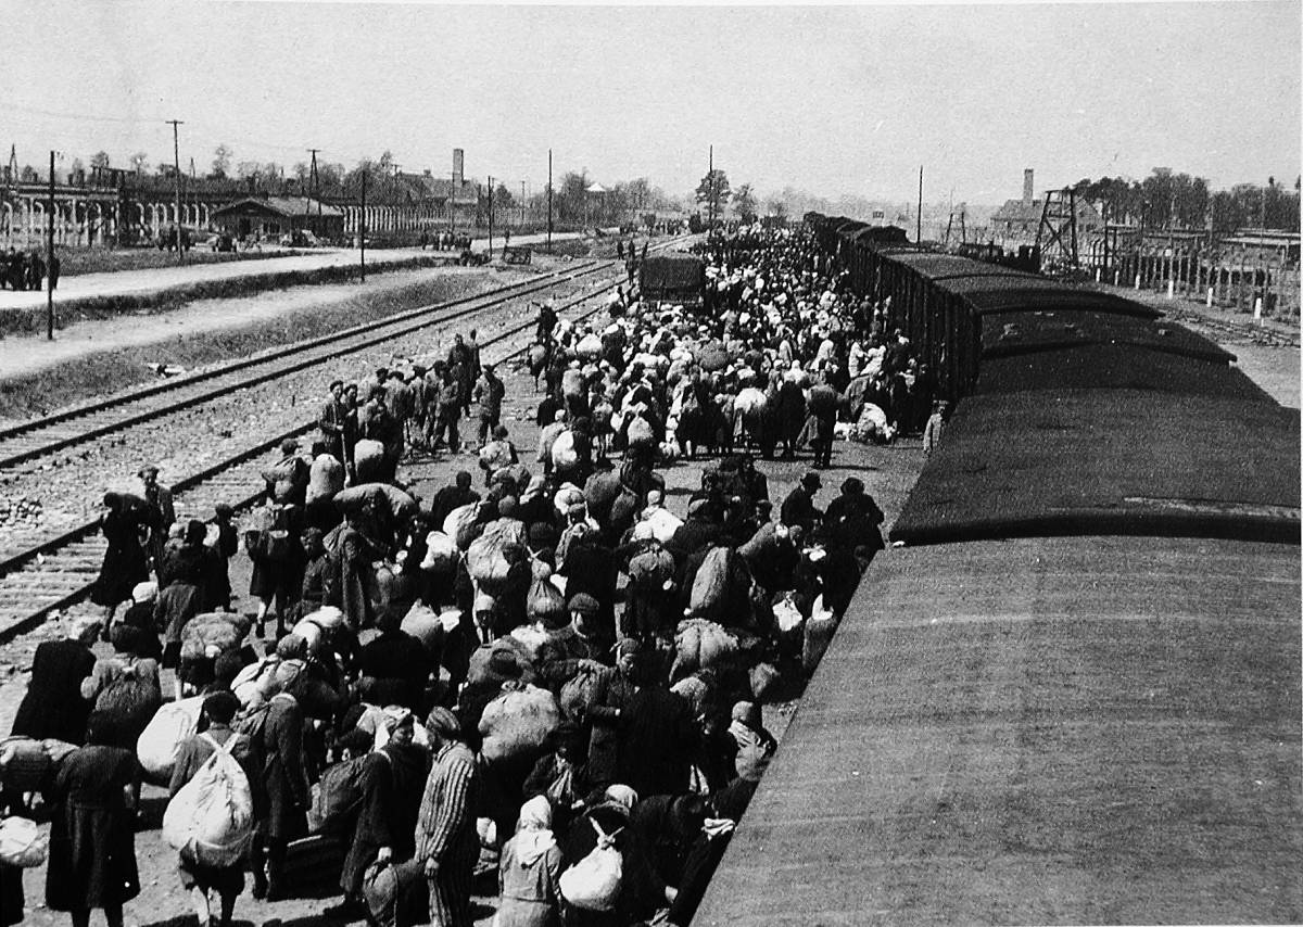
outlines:
[[[52,806],[46,906],[68,911],[73,927],[90,923],[94,907],[109,927],[121,927],[122,904],[141,892],[136,868],[133,781],[136,754],[112,746],[112,719],[91,713],[87,745],[60,763],[46,796]]]

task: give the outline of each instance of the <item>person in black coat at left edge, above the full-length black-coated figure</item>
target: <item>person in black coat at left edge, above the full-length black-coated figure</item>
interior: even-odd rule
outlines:
[[[64,620],[66,637],[36,644],[31,680],[13,716],[13,737],[86,742],[91,703],[82,698],[82,681],[95,668],[91,646],[99,639],[99,621],[90,616]]]

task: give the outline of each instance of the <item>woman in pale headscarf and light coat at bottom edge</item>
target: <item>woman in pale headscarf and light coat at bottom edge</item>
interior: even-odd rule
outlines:
[[[560,923],[562,850],[551,832],[552,809],[536,796],[520,807],[516,836],[498,861],[496,927],[555,927]]]

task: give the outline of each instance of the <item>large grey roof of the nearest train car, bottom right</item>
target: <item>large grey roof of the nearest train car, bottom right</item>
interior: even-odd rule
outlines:
[[[1190,538],[883,552],[692,923],[1303,920],[1299,569]]]

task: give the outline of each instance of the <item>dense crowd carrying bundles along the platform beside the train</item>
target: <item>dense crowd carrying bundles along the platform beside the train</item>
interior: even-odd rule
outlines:
[[[66,747],[42,784],[47,905],[120,924],[142,780],[177,806],[225,776],[246,814],[173,844],[201,927],[231,923],[246,872],[292,897],[309,833],[341,850],[343,919],[470,924],[487,892],[499,927],[687,924],[777,747],[762,704],[813,668],[883,546],[859,478],[820,501],[835,434],[869,405],[923,430],[933,388],[804,236],[744,229],[704,258],[700,307],[622,290],[597,327],[541,307],[537,445],[512,441],[472,331],[332,383],[310,453],[284,444],[244,523],[179,522],[156,467],[108,493],[104,611],[38,648],[13,728]],[[757,457],[807,444],[771,499]],[[412,448],[468,466],[418,499]],[[702,454],[672,510],[665,467]],[[257,605],[235,612],[241,543]]]

